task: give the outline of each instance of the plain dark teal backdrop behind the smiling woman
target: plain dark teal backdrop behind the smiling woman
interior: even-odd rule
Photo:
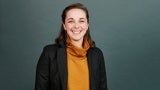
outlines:
[[[160,90],[160,0],[77,0],[105,57],[109,90]],[[0,90],[33,90],[42,49],[76,0],[0,0]]]

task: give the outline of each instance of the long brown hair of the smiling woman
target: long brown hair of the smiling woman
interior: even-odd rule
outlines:
[[[61,25],[61,30],[60,30],[59,36],[55,39],[56,44],[59,44],[59,42],[61,40],[66,41],[67,32],[64,30],[63,23],[65,22],[67,12],[69,10],[75,9],[75,8],[81,9],[81,10],[83,10],[86,13],[87,21],[89,23],[88,10],[87,10],[87,8],[83,4],[81,4],[81,3],[75,3],[75,4],[71,4],[71,5],[67,6],[63,10],[62,15],[61,15],[62,25]],[[92,41],[89,28],[88,28],[86,34],[84,35],[84,39],[88,40],[88,43],[89,43],[90,47],[95,47],[95,43]]]

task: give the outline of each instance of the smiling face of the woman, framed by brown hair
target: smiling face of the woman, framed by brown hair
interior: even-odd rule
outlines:
[[[89,27],[86,13],[81,9],[69,10],[66,13],[63,27],[67,31],[71,41],[83,41],[83,37]]]

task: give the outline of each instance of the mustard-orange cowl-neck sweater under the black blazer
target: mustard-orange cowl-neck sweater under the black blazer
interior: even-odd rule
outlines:
[[[89,71],[87,62],[88,42],[84,47],[76,47],[67,42],[68,89],[89,90]]]

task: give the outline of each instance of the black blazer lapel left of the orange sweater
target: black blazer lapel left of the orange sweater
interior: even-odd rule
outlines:
[[[62,89],[67,90],[67,56],[65,48],[59,48],[57,51],[57,62]]]

